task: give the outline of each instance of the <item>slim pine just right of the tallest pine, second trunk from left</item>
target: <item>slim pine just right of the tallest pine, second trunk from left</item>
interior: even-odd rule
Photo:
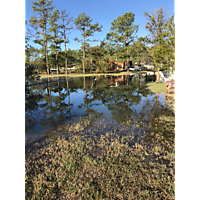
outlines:
[[[51,52],[56,55],[56,67],[57,67],[57,74],[59,74],[59,68],[58,68],[58,50],[61,49],[59,46],[63,40],[59,36],[59,10],[56,9],[53,11],[51,17],[49,18],[49,24],[50,24],[50,29],[49,32],[53,32],[53,36],[51,37]]]

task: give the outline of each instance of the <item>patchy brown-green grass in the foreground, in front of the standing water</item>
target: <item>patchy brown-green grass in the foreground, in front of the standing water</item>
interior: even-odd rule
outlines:
[[[175,144],[157,138],[59,137],[26,154],[25,199],[175,199]]]

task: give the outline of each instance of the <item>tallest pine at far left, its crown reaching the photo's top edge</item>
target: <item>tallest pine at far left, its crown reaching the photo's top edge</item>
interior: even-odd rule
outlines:
[[[31,17],[29,22],[31,23],[31,27],[35,30],[35,33],[32,33],[36,39],[34,43],[37,43],[43,47],[42,53],[45,56],[45,62],[47,66],[47,73],[50,73],[49,69],[49,61],[48,61],[48,51],[47,44],[50,39],[48,32],[48,18],[50,17],[50,13],[54,9],[52,6],[53,0],[38,0],[36,2],[32,2],[33,12],[37,14],[37,17]],[[42,39],[41,39],[42,37]]]

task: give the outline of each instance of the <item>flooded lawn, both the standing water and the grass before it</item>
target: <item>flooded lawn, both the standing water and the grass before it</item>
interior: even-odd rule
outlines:
[[[60,77],[27,88],[26,198],[174,199],[175,114],[146,87],[154,80]]]

